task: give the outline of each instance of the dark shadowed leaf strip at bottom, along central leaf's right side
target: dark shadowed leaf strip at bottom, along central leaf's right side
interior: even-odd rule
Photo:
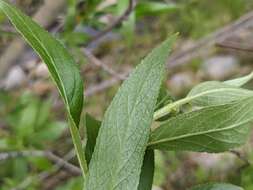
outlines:
[[[153,150],[146,150],[141,169],[138,190],[151,190],[155,171],[155,155]]]

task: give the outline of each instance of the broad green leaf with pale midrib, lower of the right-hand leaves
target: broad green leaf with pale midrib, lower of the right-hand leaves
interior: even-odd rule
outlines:
[[[156,128],[149,147],[172,151],[223,152],[245,143],[253,120],[253,97],[206,107]]]

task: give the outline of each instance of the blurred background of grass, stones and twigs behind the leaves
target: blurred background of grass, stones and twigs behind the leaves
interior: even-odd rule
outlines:
[[[164,85],[175,100],[202,81],[253,70],[252,0],[10,2],[75,57],[85,81],[85,112],[97,119],[132,68],[173,33],[179,37]],[[0,13],[0,190],[82,189],[65,116],[46,66]],[[157,151],[153,189],[223,181],[252,190],[252,144],[253,138],[222,154]]]

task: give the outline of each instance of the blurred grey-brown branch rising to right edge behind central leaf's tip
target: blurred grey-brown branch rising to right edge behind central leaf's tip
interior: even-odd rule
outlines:
[[[225,39],[235,35],[242,28],[247,28],[251,25],[253,25],[253,11],[243,15],[232,24],[218,29],[207,37],[198,40],[196,43],[194,43],[187,49],[182,49],[178,52],[173,53],[168,61],[167,67],[169,69],[175,69],[179,66],[187,64],[194,58],[206,55],[213,45],[224,41]],[[121,75],[127,76],[128,73],[129,72],[122,73]],[[109,79],[98,85],[88,88],[85,92],[85,95],[90,96],[97,92],[101,92],[107,88],[110,88],[114,84],[117,84],[118,82],[119,80],[117,78]]]

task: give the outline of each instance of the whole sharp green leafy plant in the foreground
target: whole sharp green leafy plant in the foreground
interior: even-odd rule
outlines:
[[[177,101],[171,102],[164,93],[166,105],[159,104],[165,63],[175,41],[175,36],[171,36],[148,54],[123,82],[101,123],[92,116],[86,117],[89,149],[85,152],[79,131],[83,82],[74,59],[61,43],[11,4],[0,0],[0,10],[43,59],[62,96],[84,189],[150,190],[154,149],[219,153],[246,142],[253,121],[253,91],[241,86],[252,79],[252,73],[225,82],[201,83]],[[192,109],[184,112],[182,108],[186,104]],[[30,141],[29,135],[36,126],[44,129],[37,123],[40,120],[34,119],[36,110],[36,102],[29,103],[20,122],[16,120],[12,124],[25,128],[18,131],[22,139],[18,145],[24,146]],[[31,124],[23,125],[23,120]],[[241,188],[212,183],[193,189]]]

